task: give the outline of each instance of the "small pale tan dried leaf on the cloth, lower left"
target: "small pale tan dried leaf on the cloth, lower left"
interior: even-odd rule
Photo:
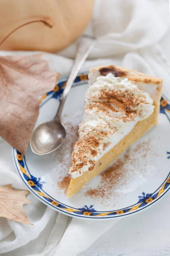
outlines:
[[[23,204],[31,204],[27,190],[14,189],[11,184],[0,186],[0,217],[33,225],[27,218]]]

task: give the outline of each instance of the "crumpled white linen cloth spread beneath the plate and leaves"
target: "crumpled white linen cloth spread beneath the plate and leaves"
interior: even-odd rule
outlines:
[[[82,70],[116,64],[164,78],[170,96],[168,0],[97,0],[93,32],[98,36]],[[91,26],[85,32],[92,33]],[[50,66],[69,73],[75,44],[60,55],[45,54]],[[32,52],[0,52],[0,55]],[[11,147],[0,139],[0,186],[12,183],[26,189],[15,171]],[[0,218],[3,256],[168,256],[170,255],[170,194],[144,212],[115,220],[86,221],[46,207],[33,195],[24,206],[34,226]]]

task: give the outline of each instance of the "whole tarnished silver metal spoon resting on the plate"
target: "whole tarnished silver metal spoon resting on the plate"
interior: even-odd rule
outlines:
[[[59,148],[65,141],[66,131],[61,119],[62,108],[80,68],[84,64],[95,43],[96,41],[92,38],[82,37],[80,39],[76,57],[56,116],[50,122],[45,122],[39,125],[32,134],[30,146],[35,154],[41,156],[49,154]]]

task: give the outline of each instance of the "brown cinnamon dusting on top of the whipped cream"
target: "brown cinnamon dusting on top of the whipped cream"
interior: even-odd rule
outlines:
[[[135,90],[138,89],[133,88],[133,91]],[[105,116],[108,120],[114,118],[116,122],[134,121],[137,115],[136,108],[145,102],[143,95],[136,97],[129,89],[122,91],[116,87],[114,87],[114,90],[108,90],[108,88],[104,87],[96,94],[88,92],[87,99],[90,99],[90,103],[84,108],[85,115],[88,115],[89,112],[92,111],[99,113],[99,118],[100,115]],[[114,113],[116,113],[116,115]],[[80,169],[88,165],[90,166],[87,171],[94,169],[97,162],[93,161],[93,163],[90,164],[89,159],[97,157],[98,154],[101,153],[99,145],[101,145],[104,137],[114,135],[119,130],[113,123],[112,127],[110,125],[110,121],[102,121],[102,125],[98,124],[96,129],[89,128],[85,130],[85,128],[83,128],[84,122],[80,124],[80,138],[74,146],[74,153],[71,157],[72,166],[69,169],[71,174],[79,172]],[[103,129],[103,126],[105,127],[105,130]],[[108,145],[104,143],[103,150],[107,147]]]

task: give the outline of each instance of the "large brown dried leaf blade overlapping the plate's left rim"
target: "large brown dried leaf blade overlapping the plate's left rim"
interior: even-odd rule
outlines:
[[[41,56],[0,56],[0,136],[22,154],[39,115],[40,99],[59,78]]]

